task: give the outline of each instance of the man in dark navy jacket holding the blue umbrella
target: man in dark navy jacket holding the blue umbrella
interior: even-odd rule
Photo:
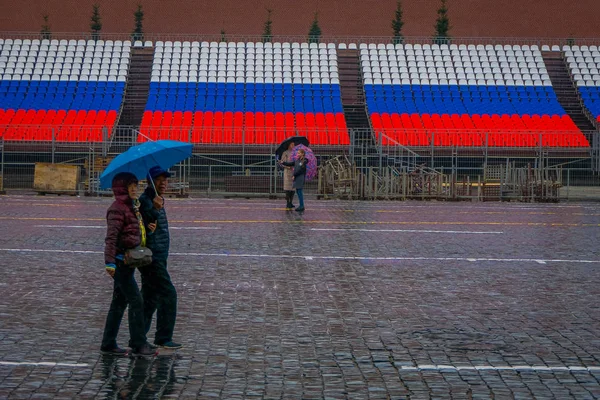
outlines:
[[[156,311],[154,344],[168,349],[178,349],[181,345],[173,342],[177,316],[177,291],[167,271],[170,237],[163,197],[170,177],[171,174],[160,167],[151,168],[148,174],[148,187],[140,196],[140,211],[144,222],[156,224],[154,232],[148,235],[147,241],[147,247],[152,250],[152,264],[140,268],[140,272],[146,333],[150,331],[152,317]]]

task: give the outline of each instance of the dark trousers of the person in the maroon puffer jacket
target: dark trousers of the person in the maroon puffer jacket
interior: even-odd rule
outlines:
[[[138,348],[146,343],[144,331],[144,302],[135,281],[135,269],[117,261],[114,276],[113,298],[104,325],[102,348],[111,349],[117,346],[117,335],[125,309],[129,306],[129,343]]]

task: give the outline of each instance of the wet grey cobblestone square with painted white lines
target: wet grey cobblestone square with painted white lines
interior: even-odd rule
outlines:
[[[151,360],[99,353],[109,204],[0,197],[0,398],[600,397],[599,204],[168,200]]]

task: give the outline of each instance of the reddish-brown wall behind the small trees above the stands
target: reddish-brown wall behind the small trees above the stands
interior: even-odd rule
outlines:
[[[305,35],[319,10],[324,35],[388,36],[395,0],[0,0],[0,31],[39,31],[49,14],[54,32],[86,32],[92,4],[104,32],[129,32],[144,7],[153,33],[260,35],[266,7],[275,35]],[[430,36],[439,0],[403,0],[404,34]],[[600,0],[448,0],[452,36],[598,37]]]

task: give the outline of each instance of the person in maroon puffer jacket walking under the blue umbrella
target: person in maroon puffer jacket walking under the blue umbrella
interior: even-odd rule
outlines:
[[[129,306],[129,343],[133,354],[153,356],[156,348],[146,340],[143,300],[135,281],[135,268],[123,263],[125,251],[144,245],[146,241],[137,201],[137,185],[135,175],[128,172],[117,174],[112,181],[115,201],[106,213],[104,263],[106,272],[114,279],[114,286],[100,350],[114,355],[128,354],[117,345],[117,335],[125,308]],[[151,225],[148,228],[152,230],[154,226]]]

